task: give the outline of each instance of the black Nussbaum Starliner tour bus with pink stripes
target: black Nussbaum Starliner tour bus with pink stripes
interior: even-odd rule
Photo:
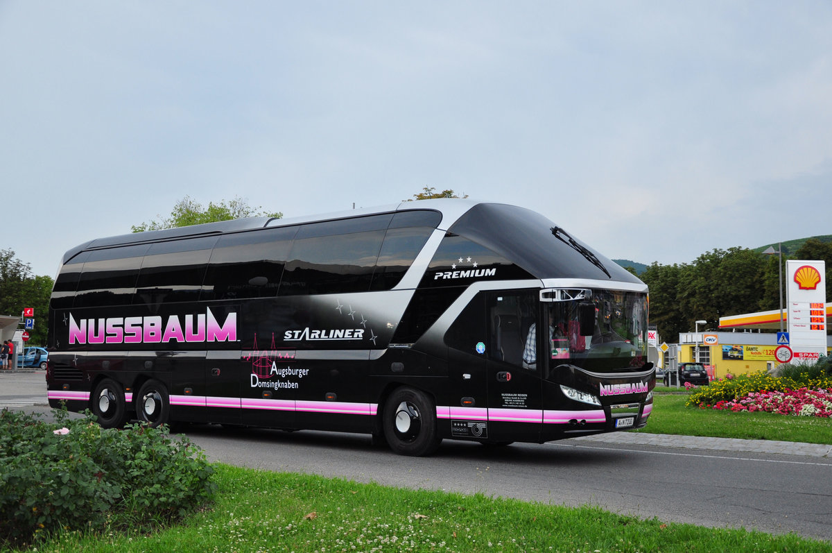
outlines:
[[[468,200],[87,242],[49,312],[53,407],[364,432],[427,455],[640,428],[647,288],[536,212]]]

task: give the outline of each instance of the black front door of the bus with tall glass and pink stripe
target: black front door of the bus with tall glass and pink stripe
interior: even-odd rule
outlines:
[[[537,291],[489,292],[488,432],[494,441],[537,441],[543,424]]]

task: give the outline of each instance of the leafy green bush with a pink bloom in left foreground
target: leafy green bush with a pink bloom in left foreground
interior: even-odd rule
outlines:
[[[56,423],[0,412],[0,546],[40,534],[151,526],[210,501],[214,468],[165,428],[105,430],[94,417]]]

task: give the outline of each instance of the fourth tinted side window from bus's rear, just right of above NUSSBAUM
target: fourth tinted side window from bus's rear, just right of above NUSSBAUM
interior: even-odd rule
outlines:
[[[268,228],[221,237],[210,258],[201,299],[277,296],[297,230]]]

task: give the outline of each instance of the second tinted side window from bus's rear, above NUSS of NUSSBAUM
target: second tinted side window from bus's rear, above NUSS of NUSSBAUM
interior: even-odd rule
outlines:
[[[147,244],[92,250],[78,281],[74,307],[129,305]]]

